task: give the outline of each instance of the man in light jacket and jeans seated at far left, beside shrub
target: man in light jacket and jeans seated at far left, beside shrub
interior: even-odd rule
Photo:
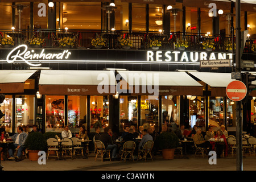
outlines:
[[[25,150],[25,141],[27,139],[27,134],[23,132],[23,129],[21,126],[18,126],[17,127],[17,133],[14,134],[11,139],[13,139],[14,143],[10,143],[8,148],[9,148],[9,155],[10,155],[10,158],[9,160],[16,160],[16,161],[20,161],[22,160],[21,157],[22,157],[22,151]],[[15,148],[18,149],[18,153],[17,153],[17,156],[16,158],[14,158],[14,155],[13,155],[13,151],[15,150]]]

